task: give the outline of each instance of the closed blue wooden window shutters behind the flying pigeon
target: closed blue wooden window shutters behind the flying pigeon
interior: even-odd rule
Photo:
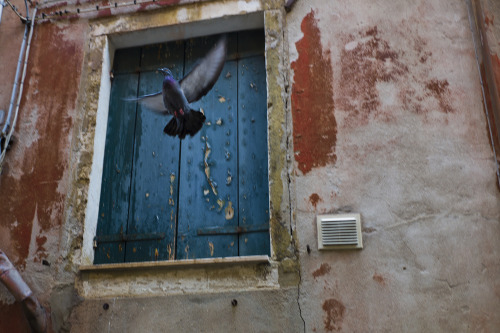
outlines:
[[[118,50],[106,132],[94,263],[269,254],[263,30],[228,35],[225,67],[184,140],[170,117],[124,101],[161,89],[159,67],[188,73],[218,36]]]

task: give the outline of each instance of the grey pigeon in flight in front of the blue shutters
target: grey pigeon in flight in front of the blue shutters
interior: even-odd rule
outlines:
[[[189,104],[205,96],[217,82],[226,61],[226,50],[227,37],[224,35],[180,81],[168,68],[159,68],[164,75],[161,91],[126,100],[138,101],[149,110],[173,115],[163,129],[166,134],[180,139],[187,134],[193,136],[203,127],[206,118],[202,111],[192,109]]]

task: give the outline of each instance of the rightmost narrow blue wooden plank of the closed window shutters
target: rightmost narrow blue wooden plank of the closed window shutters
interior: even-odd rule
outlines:
[[[240,227],[269,222],[266,75],[263,55],[238,62]],[[269,232],[239,235],[240,255],[269,254]]]

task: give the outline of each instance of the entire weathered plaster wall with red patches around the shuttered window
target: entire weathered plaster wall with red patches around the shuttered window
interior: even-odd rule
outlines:
[[[298,0],[286,16],[278,0],[193,2],[152,16],[146,6],[128,21],[113,18],[122,10],[113,9],[35,28],[18,139],[0,176],[0,248],[51,311],[55,329],[301,332],[304,320],[307,332],[496,331],[500,194],[465,1]],[[482,3],[494,60],[500,9]],[[162,297],[138,297],[141,285],[151,285],[137,278],[135,294],[92,290],[83,300],[74,285],[87,274],[78,265],[103,36],[217,16],[226,5],[268,10],[267,69],[279,71],[268,78],[270,144],[279,150],[270,157],[276,262],[269,277],[257,287],[238,290],[236,279],[224,292],[221,284],[185,295],[158,283],[167,290]],[[23,30],[5,8],[2,109]],[[361,213],[363,250],[317,251],[316,215],[338,211]],[[182,274],[195,285],[193,272]],[[223,272],[204,274],[224,281]],[[3,286],[0,323],[0,332],[29,331]]]

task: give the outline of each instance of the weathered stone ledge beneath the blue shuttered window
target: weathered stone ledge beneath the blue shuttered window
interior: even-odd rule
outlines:
[[[278,289],[278,275],[268,256],[102,264],[80,266],[76,289],[86,299]]]

